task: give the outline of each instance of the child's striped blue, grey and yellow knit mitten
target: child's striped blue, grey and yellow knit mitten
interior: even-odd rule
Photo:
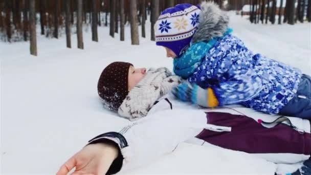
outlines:
[[[211,88],[205,90],[189,82],[183,82],[173,88],[172,94],[182,101],[188,101],[202,107],[216,107],[219,104]]]

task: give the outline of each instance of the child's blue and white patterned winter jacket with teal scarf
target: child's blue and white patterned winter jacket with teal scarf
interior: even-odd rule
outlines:
[[[215,23],[217,19],[204,18],[211,16],[212,8],[202,7],[204,15],[193,44],[180,58],[174,59],[174,73],[202,88],[212,88],[219,105],[242,104],[278,114],[297,92],[300,70],[252,53],[228,32],[228,23],[220,21],[228,20],[225,13],[220,15],[223,17],[218,16],[218,23]],[[227,32],[223,30],[223,36],[213,36],[213,30],[224,28]],[[209,31],[207,37],[206,31]]]

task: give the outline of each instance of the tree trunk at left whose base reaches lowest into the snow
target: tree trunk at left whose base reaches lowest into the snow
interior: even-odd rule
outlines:
[[[30,54],[37,56],[37,37],[35,24],[35,0],[29,1],[29,21],[30,21]]]

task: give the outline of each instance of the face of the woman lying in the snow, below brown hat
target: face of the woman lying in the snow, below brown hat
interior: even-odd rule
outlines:
[[[140,80],[142,80],[146,75],[146,68],[135,69],[130,66],[128,69],[128,91],[136,86]]]

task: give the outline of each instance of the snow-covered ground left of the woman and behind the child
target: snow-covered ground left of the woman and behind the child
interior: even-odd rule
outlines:
[[[234,34],[254,52],[300,68],[311,75],[311,26],[308,24],[252,25],[230,12]],[[148,21],[148,20],[147,20]],[[92,137],[118,130],[129,121],[103,109],[97,96],[102,69],[113,61],[136,67],[172,68],[165,50],[147,38],[140,46],[109,36],[99,27],[99,42],[83,33],[84,50],[66,49],[65,37],[37,35],[38,56],[29,43],[0,42],[1,59],[1,165],[2,174],[55,174],[59,166]]]

